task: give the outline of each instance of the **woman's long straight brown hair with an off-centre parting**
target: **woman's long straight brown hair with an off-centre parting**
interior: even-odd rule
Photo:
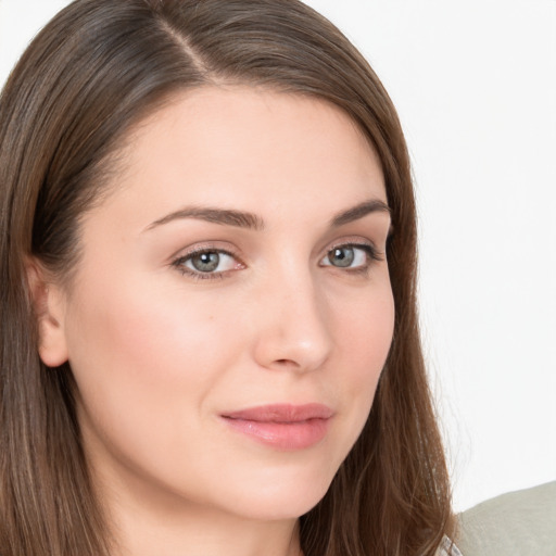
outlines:
[[[317,506],[306,556],[431,555],[450,488],[419,343],[410,169],[395,110],[348,39],[296,0],[77,0],[23,54],[0,97],[0,551],[106,556],[67,364],[47,368],[25,260],[70,277],[79,217],[126,132],[177,91],[240,83],[325,99],[377,151],[394,233],[395,329],[365,429]]]

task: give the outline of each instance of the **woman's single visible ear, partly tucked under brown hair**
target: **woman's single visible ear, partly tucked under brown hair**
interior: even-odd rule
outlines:
[[[59,367],[67,361],[65,296],[59,286],[47,279],[47,271],[37,261],[27,261],[26,271],[39,331],[39,356],[48,367]]]

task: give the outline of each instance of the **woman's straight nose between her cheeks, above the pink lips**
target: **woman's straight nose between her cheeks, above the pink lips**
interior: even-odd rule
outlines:
[[[254,358],[269,369],[320,368],[333,346],[332,318],[309,273],[277,277],[260,292]]]

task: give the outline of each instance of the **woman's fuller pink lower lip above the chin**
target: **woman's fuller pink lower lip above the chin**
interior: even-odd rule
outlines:
[[[225,417],[238,432],[278,450],[304,450],[320,442],[330,419],[307,419],[294,422],[252,421]]]

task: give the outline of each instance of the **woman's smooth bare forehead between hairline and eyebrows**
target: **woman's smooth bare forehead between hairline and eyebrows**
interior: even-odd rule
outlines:
[[[115,195],[144,220],[179,204],[253,213],[288,204],[294,216],[293,205],[337,212],[386,201],[380,163],[359,127],[338,106],[300,94],[180,93],[132,130],[121,160]]]

